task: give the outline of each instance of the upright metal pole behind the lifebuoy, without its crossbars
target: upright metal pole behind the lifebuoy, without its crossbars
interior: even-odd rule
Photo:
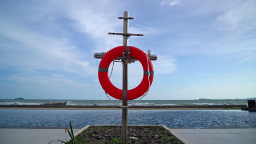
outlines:
[[[124,11],[124,17],[128,17],[128,12]],[[128,20],[124,19],[124,31],[123,33],[128,33]],[[128,46],[129,36],[124,35],[123,45]],[[123,90],[128,89],[127,81],[127,63],[123,63]],[[123,99],[123,106],[127,106],[127,100]],[[122,107],[122,144],[127,143],[127,107]]]

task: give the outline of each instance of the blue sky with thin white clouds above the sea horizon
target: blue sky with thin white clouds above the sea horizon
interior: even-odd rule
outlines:
[[[145,100],[256,97],[256,1],[1,1],[0,99],[107,99],[95,52],[129,45],[158,56]],[[110,64],[109,69],[112,68]],[[128,88],[141,82],[128,65]],[[122,88],[122,66],[110,81]],[[114,99],[114,98],[113,98]]]

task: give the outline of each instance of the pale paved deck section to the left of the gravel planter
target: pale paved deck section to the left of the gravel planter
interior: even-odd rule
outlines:
[[[79,129],[73,129],[74,133]],[[51,140],[63,140],[68,137],[64,129],[0,129],[0,143],[47,144]],[[60,142],[53,142],[60,143]]]

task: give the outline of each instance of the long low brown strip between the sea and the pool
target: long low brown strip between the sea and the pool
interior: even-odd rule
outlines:
[[[0,107],[13,108],[102,108],[113,109],[120,108],[115,105],[0,105]],[[176,108],[197,108],[197,109],[211,109],[211,108],[235,108],[247,107],[247,105],[133,105],[129,108],[134,109],[176,109]]]

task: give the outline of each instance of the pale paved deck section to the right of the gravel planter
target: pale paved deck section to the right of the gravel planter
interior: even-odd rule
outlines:
[[[170,129],[185,144],[255,144],[256,128]]]

